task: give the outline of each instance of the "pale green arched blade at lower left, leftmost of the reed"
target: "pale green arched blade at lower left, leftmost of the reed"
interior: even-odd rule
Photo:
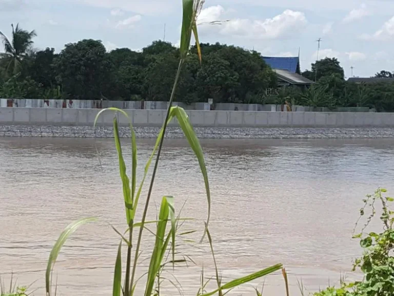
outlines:
[[[46,291],[47,295],[50,296],[51,294],[51,271],[53,269],[53,266],[55,265],[57,255],[60,253],[64,243],[67,241],[67,238],[70,237],[71,234],[73,234],[78,228],[80,228],[82,225],[87,224],[89,222],[96,221],[97,219],[94,217],[90,218],[82,218],[79,220],[74,221],[70,225],[68,225],[65,230],[62,232],[62,234],[59,236],[57,239],[55,245],[52,248],[51,253],[49,254],[49,259],[48,259],[48,265],[47,265],[47,271],[45,274],[45,285],[46,285]]]

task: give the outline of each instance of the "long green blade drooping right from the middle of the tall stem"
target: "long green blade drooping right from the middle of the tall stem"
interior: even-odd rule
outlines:
[[[208,180],[208,172],[207,172],[207,167],[205,165],[205,160],[204,160],[204,154],[203,154],[203,149],[201,148],[200,141],[197,138],[197,136],[194,133],[193,127],[191,126],[189,122],[189,118],[185,112],[185,110],[181,107],[175,106],[171,109],[171,111],[175,114],[176,119],[178,119],[178,123],[182,128],[183,133],[185,134],[185,137],[187,141],[189,142],[189,145],[191,149],[193,150],[195,156],[197,157],[197,160],[199,161],[200,165],[200,170],[201,173],[203,174],[204,178],[204,183],[205,183],[205,190],[207,194],[207,200],[208,200],[208,217],[206,221],[206,227],[205,227],[205,232],[208,229],[208,224],[209,224],[209,218],[211,214],[211,191],[209,188],[209,180]],[[204,239],[204,235],[201,239],[201,242]]]

